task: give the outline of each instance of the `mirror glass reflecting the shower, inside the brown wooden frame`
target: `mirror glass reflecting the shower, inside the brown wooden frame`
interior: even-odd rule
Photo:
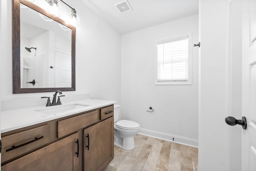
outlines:
[[[39,14],[20,8],[21,88],[71,87],[71,30]]]

